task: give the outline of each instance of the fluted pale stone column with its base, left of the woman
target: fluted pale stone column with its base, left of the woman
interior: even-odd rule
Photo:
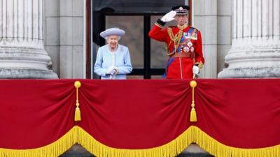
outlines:
[[[43,0],[0,0],[0,78],[57,78],[43,47]]]

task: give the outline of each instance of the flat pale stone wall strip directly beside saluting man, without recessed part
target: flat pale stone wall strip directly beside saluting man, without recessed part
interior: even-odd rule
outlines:
[[[193,7],[193,27],[202,33],[205,59],[201,77],[215,78],[217,73],[217,0],[195,0]]]

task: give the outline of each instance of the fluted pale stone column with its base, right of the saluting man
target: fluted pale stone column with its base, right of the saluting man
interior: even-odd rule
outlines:
[[[280,77],[279,0],[232,2],[232,49],[218,77]]]

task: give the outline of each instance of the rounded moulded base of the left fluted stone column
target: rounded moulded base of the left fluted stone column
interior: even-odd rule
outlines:
[[[1,79],[56,79],[50,57],[39,48],[0,47]]]

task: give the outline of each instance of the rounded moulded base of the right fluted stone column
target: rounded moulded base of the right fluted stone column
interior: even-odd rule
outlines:
[[[232,47],[226,55],[229,64],[218,78],[280,77],[280,49],[278,45],[264,47]]]

